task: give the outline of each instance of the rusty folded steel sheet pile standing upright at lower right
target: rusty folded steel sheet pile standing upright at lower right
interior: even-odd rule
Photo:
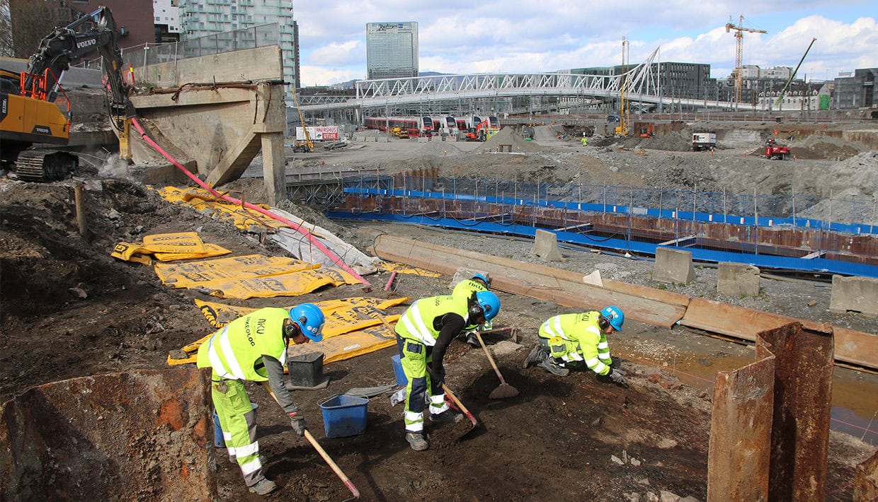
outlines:
[[[759,332],[757,363],[719,373],[708,500],[824,499],[832,338],[791,322]]]

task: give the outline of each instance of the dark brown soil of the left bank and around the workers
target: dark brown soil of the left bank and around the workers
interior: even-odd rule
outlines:
[[[463,166],[456,161],[451,169]],[[119,241],[197,230],[205,242],[235,254],[281,252],[241,235],[227,223],[169,205],[133,182],[90,180],[88,187],[90,237],[83,238],[76,227],[72,181],[0,180],[0,399],[63,378],[163,368],[169,350],[211,331],[193,300],[212,298],[171,290],[162,286],[150,267],[110,258]],[[258,189],[252,182],[241,187]],[[343,238],[361,249],[371,244],[371,234],[318,224],[340,230]],[[383,286],[388,275],[368,279],[373,286],[369,294],[387,294]],[[391,294],[417,298],[441,293],[449,279],[402,276]],[[361,295],[361,286],[342,286],[297,300]],[[519,327],[528,343],[538,323],[558,313],[558,306],[543,301],[507,294],[501,300],[498,325]],[[257,299],[241,304],[288,302]],[[631,339],[654,330],[636,323],[632,328]],[[365,500],[620,500],[630,493],[644,499],[647,492],[663,490],[706,498],[710,392],[681,385],[668,371],[630,361],[623,363],[631,374],[627,390],[598,382],[590,373],[556,378],[536,368],[522,370],[528,343],[500,341],[493,346],[500,371],[521,392],[507,400],[487,398],[499,380],[484,354],[463,342],[453,343],[449,385],[478,417],[479,427],[463,437],[459,435],[468,422],[428,428],[431,449],[426,452],[408,448],[401,407],[391,407],[386,396],[371,400],[363,435],[323,437],[319,403],[351,387],[392,384],[393,350],[329,364],[325,373],[332,381],[327,389],[296,392],[294,397],[304,408],[313,434]],[[249,390],[260,405],[259,442],[269,458],[267,474],[282,487],[269,498],[346,498],[344,485],[291,432],[270,397],[255,385]],[[849,439],[833,435],[828,486],[838,491],[827,499],[850,498],[853,466],[874,451],[862,443],[852,446]],[[838,446],[839,441],[845,442]],[[628,462],[615,463],[613,456]],[[630,462],[632,458],[637,462]],[[222,499],[261,499],[247,493],[240,471],[222,454],[218,470]]]

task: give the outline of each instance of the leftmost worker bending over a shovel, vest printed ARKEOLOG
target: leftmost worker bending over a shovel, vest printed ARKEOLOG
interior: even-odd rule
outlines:
[[[213,369],[211,396],[228,455],[241,467],[244,483],[253,493],[266,495],[277,485],[263,475],[255,411],[244,382],[268,381],[293,430],[305,435],[305,416],[284,385],[286,348],[290,342],[320,342],[325,321],[313,303],[289,310],[260,308],[229,322],[198,347],[198,367]]]

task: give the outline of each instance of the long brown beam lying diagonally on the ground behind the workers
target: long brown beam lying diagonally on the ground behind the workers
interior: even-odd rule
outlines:
[[[461,266],[489,272],[493,288],[550,300],[565,307],[600,308],[618,305],[626,317],[654,326],[671,328],[678,321],[688,328],[755,341],[756,334],[776,329],[789,322],[802,322],[808,329],[828,331],[835,335],[835,359],[878,370],[878,335],[821,324],[786,315],[772,314],[750,308],[680,293],[604,280],[603,287],[582,282],[583,274],[500,258],[475,251],[465,251],[437,244],[428,244],[405,237],[383,234],[375,240],[379,258],[420,266],[435,272],[453,275]]]

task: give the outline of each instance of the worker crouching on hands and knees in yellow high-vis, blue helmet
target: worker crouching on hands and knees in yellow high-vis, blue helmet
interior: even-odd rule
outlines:
[[[623,371],[612,367],[607,335],[622,331],[625,315],[621,308],[609,306],[600,312],[563,314],[549,318],[540,326],[539,343],[524,360],[553,375],[566,376],[570,370],[591,370],[601,380],[627,386]]]

